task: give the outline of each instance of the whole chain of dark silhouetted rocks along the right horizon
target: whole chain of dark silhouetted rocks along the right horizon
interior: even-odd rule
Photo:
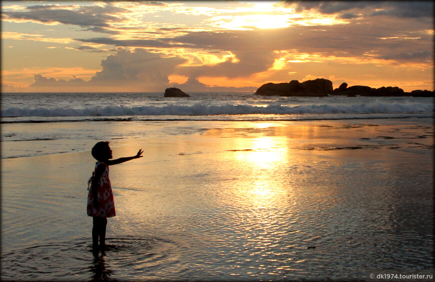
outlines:
[[[283,83],[266,83],[261,85],[255,92],[256,95],[263,96],[313,96],[321,97],[328,95],[344,96],[413,96],[413,97],[433,97],[433,91],[413,90],[405,92],[395,86],[372,88],[370,86],[354,85],[347,87],[343,82],[338,88],[332,88],[332,81],[324,78],[299,82],[291,80]]]

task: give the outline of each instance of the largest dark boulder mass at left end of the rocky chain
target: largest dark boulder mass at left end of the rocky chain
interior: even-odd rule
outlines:
[[[255,92],[263,96],[327,96],[333,91],[332,82],[328,79],[317,78],[299,82],[291,80],[286,83],[266,83],[261,85]]]

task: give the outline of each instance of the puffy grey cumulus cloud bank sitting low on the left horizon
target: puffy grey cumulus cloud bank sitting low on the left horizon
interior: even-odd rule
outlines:
[[[180,56],[165,56],[141,48],[134,51],[119,48],[115,54],[101,61],[102,69],[85,81],[73,78],[56,79],[42,74],[34,75],[34,82],[29,86],[33,91],[164,91],[167,87],[179,87],[185,91],[244,91],[253,87],[225,87],[207,85],[198,80],[201,70],[192,68],[189,78],[184,83],[169,83],[168,76],[179,73],[178,65],[186,60]],[[49,73],[54,75],[55,73]]]

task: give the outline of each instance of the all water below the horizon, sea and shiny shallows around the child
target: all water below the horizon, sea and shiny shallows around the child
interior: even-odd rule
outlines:
[[[2,93],[2,280],[365,280],[433,269],[433,98]],[[91,252],[90,149],[117,215]]]

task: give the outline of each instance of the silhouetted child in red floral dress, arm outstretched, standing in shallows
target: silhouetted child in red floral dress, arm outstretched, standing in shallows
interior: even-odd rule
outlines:
[[[142,152],[140,149],[134,156],[111,159],[112,150],[107,141],[98,142],[92,148],[92,156],[98,161],[95,163],[95,170],[88,181],[90,189],[87,194],[87,215],[93,217],[92,250],[94,253],[98,251],[98,237],[100,248],[104,251],[107,217],[116,215],[112,188],[108,178],[108,166],[142,157]]]

